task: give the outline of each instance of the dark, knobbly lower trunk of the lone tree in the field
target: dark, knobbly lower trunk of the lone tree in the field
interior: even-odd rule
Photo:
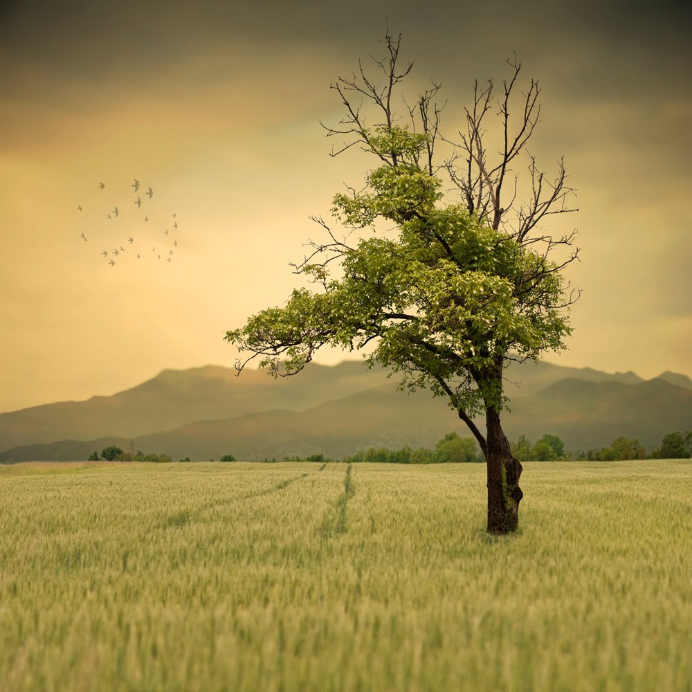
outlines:
[[[512,455],[500,425],[500,413],[486,410],[486,462],[488,466],[488,533],[509,534],[519,525],[519,487],[522,466]]]

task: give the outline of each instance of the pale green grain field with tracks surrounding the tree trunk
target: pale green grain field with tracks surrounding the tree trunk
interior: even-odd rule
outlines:
[[[0,467],[0,690],[692,689],[692,462]]]

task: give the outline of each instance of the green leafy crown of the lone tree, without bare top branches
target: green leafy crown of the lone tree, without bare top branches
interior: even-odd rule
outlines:
[[[327,262],[302,265],[318,290],[295,289],[226,340],[275,375],[298,372],[323,345],[374,344],[368,361],[401,372],[403,388],[429,388],[470,417],[499,410],[498,362],[509,352],[538,358],[570,334],[556,307],[564,302],[558,267],[464,206],[441,205],[441,179],[417,164],[421,136],[366,134],[373,147],[406,156],[370,172],[363,191],[337,194],[332,212],[350,228],[394,222],[396,235],[374,232],[340,248],[339,278]]]

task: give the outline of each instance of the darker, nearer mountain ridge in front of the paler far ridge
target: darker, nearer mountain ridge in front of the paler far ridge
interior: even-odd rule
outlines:
[[[516,397],[504,415],[510,439],[545,432],[560,436],[568,449],[610,444],[617,435],[644,446],[660,444],[666,432],[689,430],[692,390],[662,379],[628,385],[618,381],[565,379],[529,397]],[[6,450],[0,461],[85,459],[107,444],[130,445],[174,459],[282,459],[323,453],[334,458],[370,446],[432,446],[447,432],[470,433],[444,401],[426,392],[404,394],[395,383],[320,403],[303,411],[271,410],[194,423],[132,440],[103,438],[60,441]]]

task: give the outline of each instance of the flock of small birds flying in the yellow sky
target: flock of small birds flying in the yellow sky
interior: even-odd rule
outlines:
[[[98,189],[102,192],[103,190],[106,190],[106,185],[105,183],[98,183]],[[136,207],[136,212],[141,213],[142,211],[142,206],[145,205],[145,216],[144,217],[139,217],[137,219],[137,224],[138,226],[135,228],[131,224],[131,220],[128,219],[126,223],[123,223],[123,219],[125,217],[129,217],[129,213],[125,212],[126,208],[124,206],[121,206],[118,208],[118,206],[113,206],[112,209],[109,209],[107,211],[103,210],[103,206],[100,206],[101,212],[99,214],[100,221],[103,219],[106,219],[106,223],[111,224],[112,222],[112,230],[118,230],[119,232],[125,231],[127,233],[131,233],[132,235],[127,235],[125,236],[124,233],[123,235],[120,235],[122,238],[122,242],[116,246],[116,248],[113,248],[113,250],[102,250],[100,251],[100,255],[102,255],[103,259],[107,261],[107,264],[110,266],[116,266],[116,264],[123,258],[126,257],[127,255],[132,255],[135,260],[142,260],[143,255],[140,254],[142,252],[145,252],[144,249],[141,249],[140,252],[134,254],[134,250],[138,248],[142,248],[143,246],[146,246],[147,248],[149,247],[149,244],[152,242],[152,237],[150,233],[145,234],[143,227],[140,226],[142,222],[145,222],[149,224],[149,213],[147,212],[147,206],[149,203],[152,201],[152,198],[154,197],[154,190],[147,185],[147,190],[144,192],[145,186],[140,183],[137,179],[134,179],[134,182],[130,185],[130,187],[133,190],[133,194],[135,195],[136,199],[132,200],[132,203]],[[143,190],[143,192],[139,192],[140,188]],[[95,193],[95,194],[100,194],[100,193]],[[145,199],[142,199],[144,197]],[[146,198],[149,198],[148,200]],[[131,208],[130,208],[131,209]],[[81,204],[77,205],[77,210],[80,212],[80,215],[84,213],[84,208],[82,207]],[[125,213],[124,213],[125,212]],[[172,233],[175,233],[176,230],[178,230],[178,221],[177,221],[177,214],[174,212],[170,217],[167,217],[172,219],[172,223],[169,221],[168,225],[170,226],[169,230],[168,227],[165,227],[163,230],[159,230],[159,233],[161,233],[161,236],[163,238],[161,239],[161,242],[156,241],[156,236],[154,236],[154,244],[152,244],[152,248],[150,251],[147,251],[147,256],[152,257],[156,261],[160,262],[161,260],[165,260],[168,264],[170,264],[172,257],[174,253],[176,253],[177,248],[178,248],[178,241],[175,239],[172,235]],[[94,223],[94,221],[91,221],[91,226],[92,228],[95,228],[97,224]],[[163,224],[161,224],[163,225]],[[125,226],[125,229],[122,228],[122,226]],[[90,234],[91,235],[91,234]],[[158,235],[158,234],[156,234]],[[161,238],[161,236],[158,236]],[[89,238],[86,237],[86,234],[84,231],[79,236],[83,242],[89,242]],[[125,239],[127,238],[127,239]],[[172,241],[172,242],[171,242]],[[127,244],[127,250],[126,246]],[[157,245],[158,245],[158,250],[157,250]],[[163,256],[162,256],[163,255]],[[118,258],[118,260],[114,259],[115,257]]]

